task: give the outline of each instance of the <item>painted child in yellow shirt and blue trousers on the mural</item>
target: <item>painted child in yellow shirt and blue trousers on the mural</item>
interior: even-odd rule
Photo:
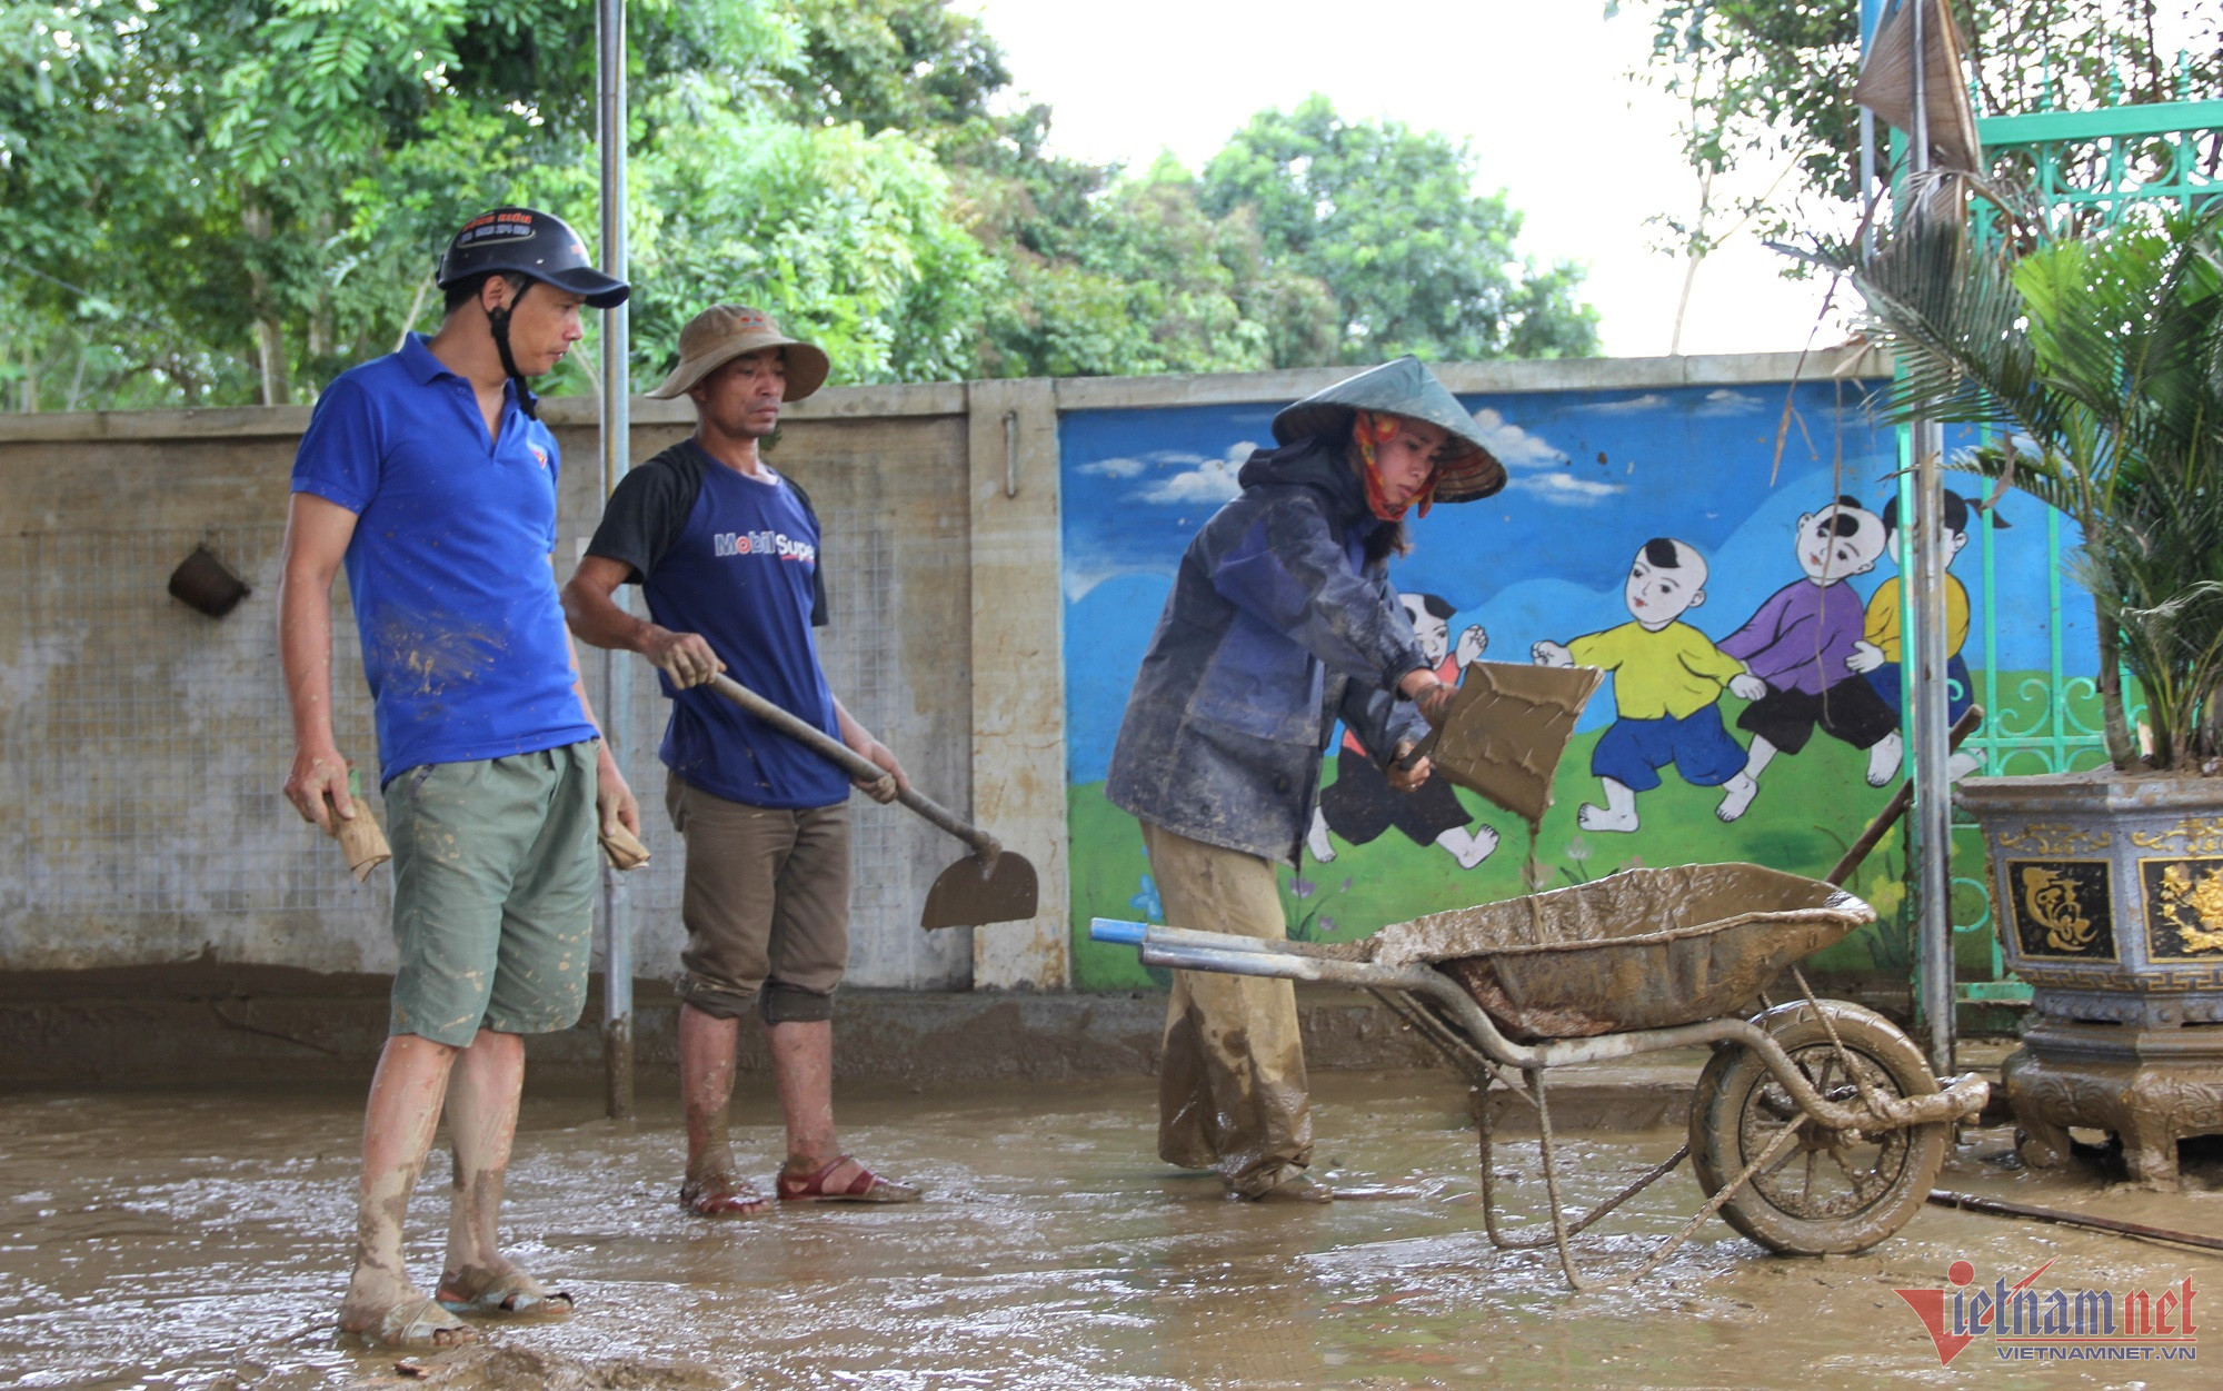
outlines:
[[[1745,751],[1721,727],[1721,691],[1761,700],[1767,687],[1683,622],[1705,602],[1705,558],[1678,540],[1647,540],[1629,567],[1623,598],[1636,622],[1529,649],[1541,667],[1614,673],[1616,720],[1589,755],[1605,807],[1583,802],[1576,822],[1585,831],[1634,831],[1636,793],[1658,787],[1667,764],[1692,787],[1727,784],[1732,798],[1752,800]]]

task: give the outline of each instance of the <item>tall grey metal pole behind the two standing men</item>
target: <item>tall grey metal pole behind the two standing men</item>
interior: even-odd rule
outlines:
[[[602,144],[602,271],[625,280],[625,0],[596,4],[598,118]],[[631,462],[631,376],[625,304],[602,311],[602,496]],[[618,589],[627,602],[625,589]],[[602,653],[602,740],[625,769],[634,667]],[[611,1120],[634,1113],[634,911],[625,878],[602,864],[602,1071]]]

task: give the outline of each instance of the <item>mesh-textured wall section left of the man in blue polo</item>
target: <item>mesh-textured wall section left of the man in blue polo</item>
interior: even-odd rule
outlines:
[[[280,784],[293,735],[278,680],[282,527],[71,531],[4,538],[22,636],[0,704],[9,882],[27,913],[376,913],[316,844]],[[251,598],[205,618],[165,584],[205,544]],[[371,773],[353,616],[333,616],[333,724]]]

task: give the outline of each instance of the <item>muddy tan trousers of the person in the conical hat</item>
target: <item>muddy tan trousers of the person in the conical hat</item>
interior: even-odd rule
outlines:
[[[1143,822],[1149,873],[1174,927],[1280,940],[1274,867]],[[1158,1155],[1218,1169],[1247,1198],[1312,1162],[1305,1044],[1287,980],[1174,971],[1158,1073]]]

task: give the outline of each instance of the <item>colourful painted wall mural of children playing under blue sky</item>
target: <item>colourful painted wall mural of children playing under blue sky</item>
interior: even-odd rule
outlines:
[[[1485,653],[1612,678],[1561,760],[1532,867],[1518,818],[1443,780],[1398,793],[1338,731],[1303,864],[1280,875],[1292,935],[1349,940],[1512,898],[1529,880],[1638,864],[1825,873],[1883,807],[1905,753],[1896,438],[1861,402],[1856,382],[1463,398],[1512,482],[1434,509],[1392,564],[1427,658],[1445,678]],[[1143,835],[1105,802],[1105,771],[1180,553],[1236,496],[1236,469],[1272,440],[1278,404],[1060,420],[1083,989],[1152,984],[1132,949],[1087,940],[1094,915],[1163,922]],[[1992,511],[1958,493],[1947,502],[1956,713],[1990,693],[1992,718],[2014,722],[2027,715],[2016,702],[2050,700],[2054,651],[2092,651],[2087,609],[2067,604],[2063,631],[2047,627],[2058,587],[2047,531],[2061,527],[2041,511],[2012,493]],[[1985,564],[1963,560],[1974,551]],[[1870,860],[1852,887],[1885,924],[1821,967],[1905,964],[1901,869],[1894,851]]]

